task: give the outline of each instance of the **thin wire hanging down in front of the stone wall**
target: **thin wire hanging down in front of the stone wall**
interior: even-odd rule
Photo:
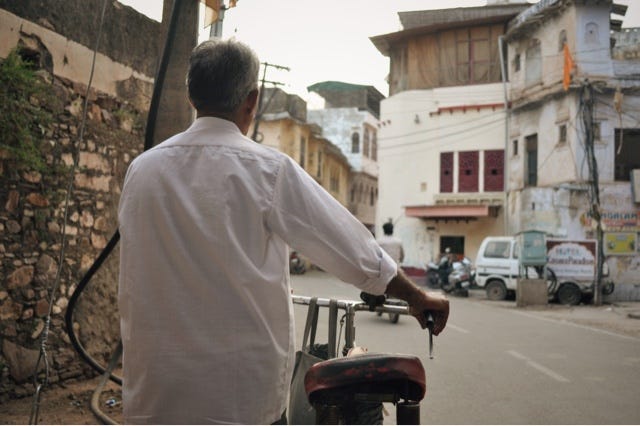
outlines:
[[[56,272],[56,277],[49,290],[49,310],[47,312],[47,318],[45,321],[45,326],[42,332],[42,339],[40,341],[40,352],[38,354],[38,360],[36,361],[36,365],[33,372],[33,384],[35,387],[35,394],[33,396],[33,403],[31,405],[31,415],[29,417],[29,424],[37,424],[38,423],[38,415],[40,413],[40,397],[42,394],[42,390],[49,384],[49,359],[47,357],[47,341],[49,339],[49,330],[51,329],[51,316],[53,313],[53,304],[55,301],[56,292],[60,286],[60,277],[62,276],[62,268],[64,265],[64,255],[65,249],[67,245],[67,235],[66,235],[66,227],[69,219],[69,203],[71,198],[71,193],[73,192],[73,182],[75,178],[75,172],[78,169],[78,146],[84,139],[84,131],[87,122],[87,112],[88,112],[88,102],[89,102],[89,93],[91,90],[91,85],[93,83],[93,75],[95,72],[96,65],[96,57],[98,53],[98,46],[100,45],[100,38],[102,36],[102,29],[104,27],[104,15],[107,9],[108,0],[104,0],[102,3],[102,12],[100,13],[100,23],[98,25],[98,34],[96,35],[96,43],[93,49],[93,58],[91,60],[91,72],[89,74],[89,82],[87,84],[87,90],[84,97],[84,104],[82,110],[82,119],[80,121],[80,131],[78,134],[78,140],[75,145],[75,152],[73,152],[73,166],[71,169],[71,173],[69,174],[69,181],[67,183],[67,189],[64,199],[64,219],[62,222],[62,243],[60,244],[60,256],[58,258],[58,270]],[[42,383],[39,382],[38,372],[40,370],[41,363],[44,362],[45,372],[44,372],[44,381]]]

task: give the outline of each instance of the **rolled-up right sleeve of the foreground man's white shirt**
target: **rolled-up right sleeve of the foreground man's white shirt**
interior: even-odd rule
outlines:
[[[383,294],[397,274],[371,232],[288,157],[278,171],[267,221],[290,246],[367,293]]]

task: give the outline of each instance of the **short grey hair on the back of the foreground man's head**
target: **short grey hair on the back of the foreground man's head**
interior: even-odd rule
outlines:
[[[191,52],[187,88],[198,111],[234,112],[258,88],[260,61],[235,39],[210,39]]]

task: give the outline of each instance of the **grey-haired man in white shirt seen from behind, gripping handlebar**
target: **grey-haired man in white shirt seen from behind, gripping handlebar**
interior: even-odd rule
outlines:
[[[137,157],[122,189],[119,308],[125,423],[272,423],[294,361],[288,246],[363,291],[407,300],[435,333],[449,305],[412,285],[288,156],[248,139],[259,61],[194,49],[195,122]]]

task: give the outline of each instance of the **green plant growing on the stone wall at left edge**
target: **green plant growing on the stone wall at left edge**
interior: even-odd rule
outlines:
[[[53,114],[42,107],[51,96],[35,67],[13,50],[0,63],[0,149],[19,168],[46,171],[40,144]]]

